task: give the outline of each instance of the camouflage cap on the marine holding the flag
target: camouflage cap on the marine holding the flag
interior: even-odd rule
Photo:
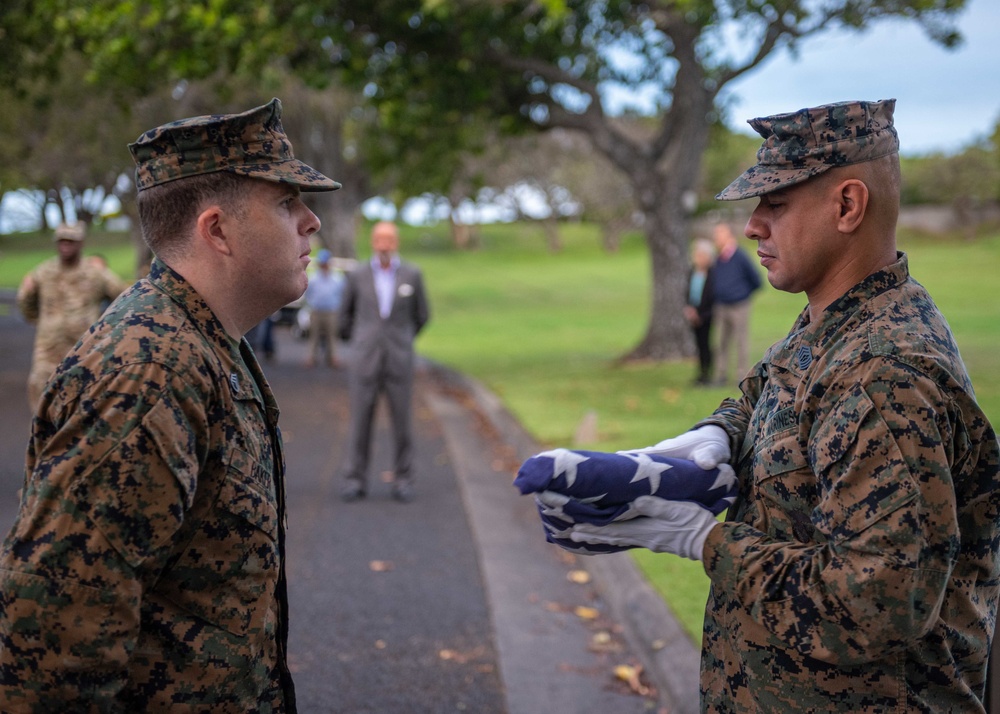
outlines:
[[[791,114],[751,119],[764,137],[751,166],[722,193],[720,201],[761,196],[787,188],[835,166],[859,164],[899,151],[892,126],[895,99],[839,102]]]

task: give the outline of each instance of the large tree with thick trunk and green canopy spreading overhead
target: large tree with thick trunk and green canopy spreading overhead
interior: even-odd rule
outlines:
[[[21,12],[23,0],[15,0]],[[631,356],[690,351],[682,317],[690,195],[719,92],[780,48],[888,18],[958,40],[964,0],[35,0],[19,35],[45,57],[72,47],[95,77],[132,88],[280,62],[304,81],[357,88],[385,163],[440,186],[461,152],[503,132],[585,135],[630,185],[651,254],[649,328]],[[5,11],[7,12],[7,11]],[[41,20],[39,20],[41,18]],[[37,28],[51,27],[46,45]],[[35,28],[32,30],[31,28]],[[738,28],[739,47],[727,42]],[[32,40],[34,40],[32,42]],[[48,47],[48,49],[46,49]],[[35,57],[34,54],[31,55]],[[650,131],[623,131],[614,85],[652,97]],[[775,107],[776,111],[788,107]]]

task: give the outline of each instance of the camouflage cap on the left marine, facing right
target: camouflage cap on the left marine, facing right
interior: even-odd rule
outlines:
[[[209,114],[150,129],[129,144],[139,191],[189,176],[228,171],[290,183],[303,191],[334,191],[340,184],[292,155],[281,128],[281,101],[242,114]]]

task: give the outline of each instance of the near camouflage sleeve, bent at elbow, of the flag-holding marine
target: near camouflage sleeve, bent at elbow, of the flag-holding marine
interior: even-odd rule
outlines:
[[[779,538],[732,521],[713,529],[704,559],[713,588],[785,646],[834,665],[919,640],[958,557],[944,445],[960,428],[928,377],[871,367],[812,428],[801,483],[815,483],[817,505],[800,524],[811,533]],[[783,477],[749,485],[752,508],[763,509],[755,512],[794,498],[792,474]]]

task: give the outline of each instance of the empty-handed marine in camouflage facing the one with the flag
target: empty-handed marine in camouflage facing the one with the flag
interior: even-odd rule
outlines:
[[[130,145],[150,273],[42,396],[0,549],[0,711],[295,711],[284,460],[242,335],[319,220],[278,100]]]

